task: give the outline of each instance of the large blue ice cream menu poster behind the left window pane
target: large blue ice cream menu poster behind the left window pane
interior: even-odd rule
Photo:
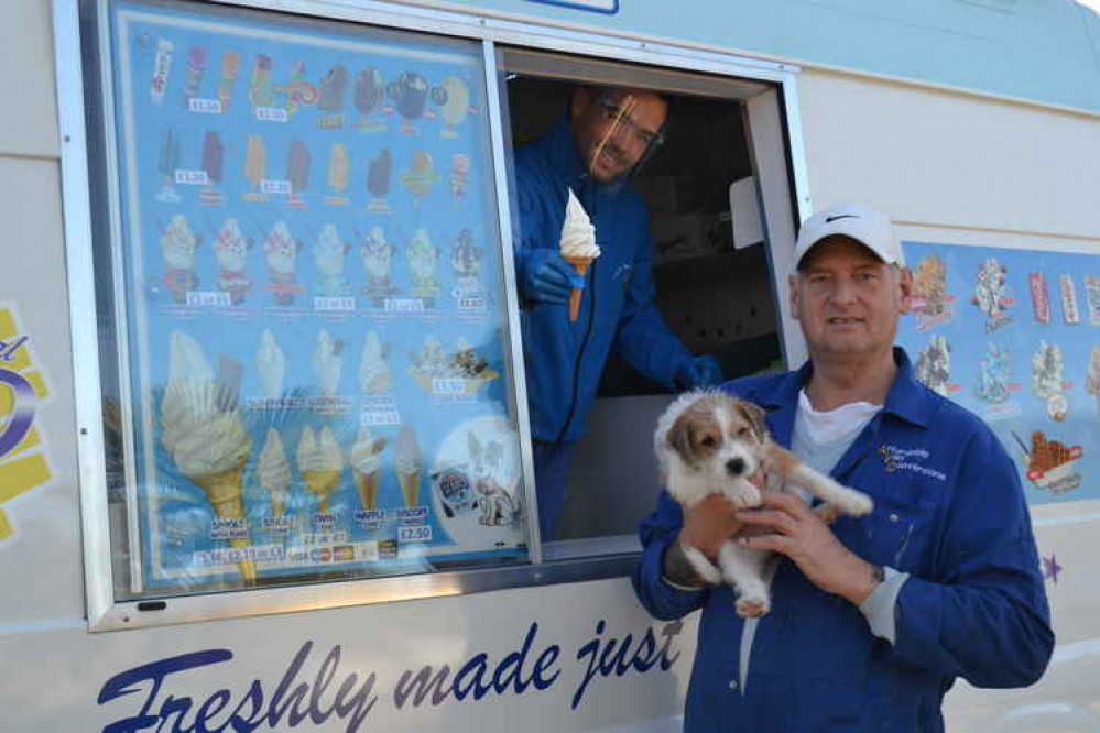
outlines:
[[[143,583],[524,558],[480,45],[113,12]]]

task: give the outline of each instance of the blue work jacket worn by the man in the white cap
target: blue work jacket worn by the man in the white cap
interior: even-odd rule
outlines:
[[[1054,633],[1016,468],[978,417],[917,382],[904,351],[894,353],[900,369],[883,409],[832,471],[870,494],[874,512],[832,529],[856,555],[910,573],[896,643],[873,636],[857,606],[784,558],[739,679],[742,620],[729,588],[679,591],[661,577],[683,523],[662,492],[633,580],[658,619],[703,609],[686,733],[943,731],[956,678],[1022,687],[1046,668]],[[789,446],[808,376],[807,365],[723,389],[763,406],[772,435]]]

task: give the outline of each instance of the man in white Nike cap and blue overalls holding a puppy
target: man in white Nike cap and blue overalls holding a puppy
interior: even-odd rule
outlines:
[[[993,433],[893,346],[912,276],[884,215],[814,215],[795,262],[791,313],[809,361],[723,389],[874,512],[830,527],[797,495],[766,493],[760,511],[714,494],[684,515],[662,492],[634,587],[660,619],[703,609],[686,733],[939,732],[957,678],[1031,685],[1054,648],[1020,478]],[[684,560],[684,546],[714,560],[738,536],[783,556],[761,619],[739,617],[736,591]]]

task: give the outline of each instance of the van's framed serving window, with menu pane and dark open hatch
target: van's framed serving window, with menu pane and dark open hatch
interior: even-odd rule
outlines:
[[[767,85],[220,3],[83,11],[94,628],[629,567],[666,389],[608,362],[556,537],[532,482],[510,155],[577,84],[672,102],[631,183],[669,327],[729,378],[782,364],[740,101]]]

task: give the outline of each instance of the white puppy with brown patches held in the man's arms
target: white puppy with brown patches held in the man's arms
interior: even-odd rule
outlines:
[[[725,392],[680,395],[661,416],[654,447],[662,480],[685,508],[711,493],[723,494],[739,507],[760,505],[760,490],[750,481],[760,470],[766,473],[769,491],[791,491],[796,484],[824,500],[815,511],[826,522],[839,513],[860,516],[872,508],[867,494],[840,485],[773,442],[761,407]],[[737,589],[738,615],[767,613],[774,553],[728,540],[718,554],[720,570],[695,547],[684,545],[684,553],[704,580],[717,586],[725,579]]]

